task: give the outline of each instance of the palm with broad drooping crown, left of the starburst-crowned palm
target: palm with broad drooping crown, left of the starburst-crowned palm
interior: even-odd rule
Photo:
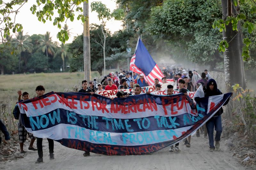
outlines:
[[[15,40],[15,46],[20,51],[20,58],[22,52],[28,52],[32,53],[33,51],[33,44],[31,43],[31,39],[29,38],[29,35],[23,35],[23,31],[18,32],[16,34],[16,40]],[[20,71],[20,58],[19,58],[19,71]]]

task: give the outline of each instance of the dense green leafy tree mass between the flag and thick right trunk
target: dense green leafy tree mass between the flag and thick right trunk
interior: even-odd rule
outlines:
[[[169,45],[172,58],[209,64],[214,68],[218,62],[223,62],[216,49],[221,34],[212,29],[219,17],[219,6],[211,0],[166,0],[151,8],[146,28]]]

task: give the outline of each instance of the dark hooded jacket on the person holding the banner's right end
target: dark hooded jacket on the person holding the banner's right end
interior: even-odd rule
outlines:
[[[212,84],[214,87],[213,87],[213,90],[210,90],[210,84]],[[210,79],[207,83],[207,86],[206,86],[206,90],[204,92],[204,97],[209,97],[209,96],[216,96],[216,95],[220,95],[222,94],[222,92],[220,92],[220,90],[218,89],[217,87],[217,83],[214,79]],[[229,98],[228,100],[223,104],[223,106],[227,105],[228,104],[228,101],[229,101]],[[223,108],[220,107],[220,109],[215,113],[214,116],[219,116],[223,113]]]

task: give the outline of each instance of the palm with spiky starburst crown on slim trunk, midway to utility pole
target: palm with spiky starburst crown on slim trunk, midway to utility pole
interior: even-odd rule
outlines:
[[[50,36],[50,32],[46,32],[44,34],[44,37],[40,39],[38,42],[41,44],[41,48],[43,52],[46,52],[46,57],[47,57],[47,66],[48,66],[48,54],[54,56],[54,50],[53,48],[55,47],[54,43],[52,42],[52,37]]]

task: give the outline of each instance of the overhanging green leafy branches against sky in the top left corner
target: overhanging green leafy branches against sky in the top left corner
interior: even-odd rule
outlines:
[[[21,32],[23,27],[20,23],[16,23],[16,17],[11,17],[11,13],[15,16],[19,14],[19,9],[27,2],[28,0],[11,0],[3,1],[0,0],[1,9],[1,25],[0,33],[2,37],[10,35],[10,30],[13,33]],[[67,31],[61,29],[61,23],[69,19],[73,21],[75,14],[77,13],[77,20],[84,22],[87,18],[83,15],[83,8],[80,7],[80,4],[83,4],[87,0],[36,0],[36,4],[31,6],[30,11],[32,14],[35,14],[38,21],[45,23],[46,20],[52,21],[54,26],[57,26],[60,29],[60,32],[57,34],[57,38],[65,43],[68,40]],[[58,15],[56,15],[57,11]],[[54,13],[55,12],[55,13]],[[54,17],[56,16],[56,17]],[[3,41],[4,42],[4,41]]]

